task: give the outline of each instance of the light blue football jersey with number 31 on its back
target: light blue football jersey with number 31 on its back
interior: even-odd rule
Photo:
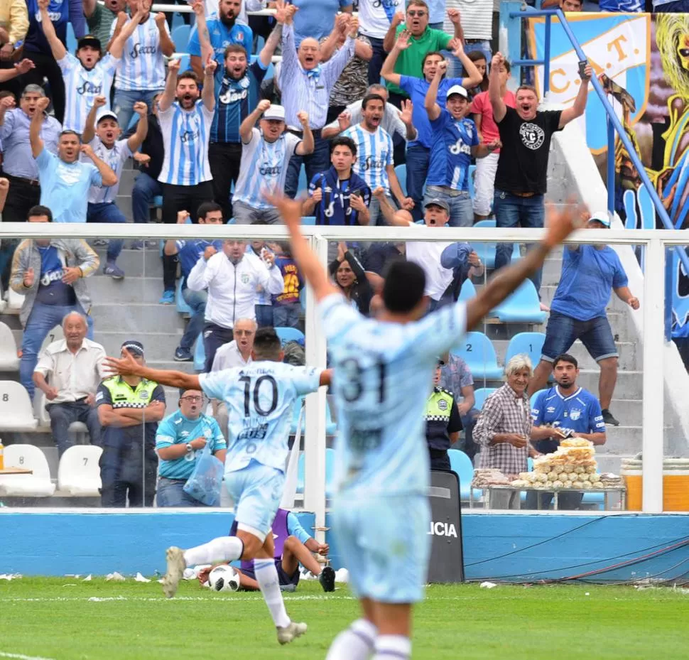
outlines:
[[[352,497],[426,494],[423,411],[438,356],[466,332],[465,305],[405,325],[365,318],[339,293],[319,309],[334,369],[340,491]]]

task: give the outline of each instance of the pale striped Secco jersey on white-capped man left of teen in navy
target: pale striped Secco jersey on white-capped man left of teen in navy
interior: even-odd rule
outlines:
[[[259,129],[252,129],[251,139],[242,144],[239,179],[232,199],[254,209],[271,208],[264,200],[264,190],[285,189],[287,167],[300,142],[300,138],[287,132],[274,142],[266,142]]]

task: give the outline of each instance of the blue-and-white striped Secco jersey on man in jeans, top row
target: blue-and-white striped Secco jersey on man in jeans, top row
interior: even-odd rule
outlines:
[[[110,26],[110,37],[115,31],[115,23]],[[165,23],[168,30],[168,24]],[[148,21],[136,26],[134,33],[124,44],[124,53],[117,69],[116,90],[162,90],[165,87],[165,63],[161,50],[161,35],[156,19],[151,13]],[[126,126],[122,126],[126,130]]]

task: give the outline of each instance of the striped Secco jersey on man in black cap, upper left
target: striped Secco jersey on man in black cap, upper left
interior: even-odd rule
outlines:
[[[107,53],[89,71],[71,53],[67,53],[62,60],[58,60],[58,66],[65,80],[63,130],[83,133],[86,117],[97,96],[104,96],[104,107],[110,107],[110,87],[112,87],[112,79],[119,61],[118,58]]]

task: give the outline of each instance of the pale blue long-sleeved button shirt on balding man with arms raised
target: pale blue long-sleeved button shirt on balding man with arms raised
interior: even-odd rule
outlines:
[[[280,89],[285,120],[288,126],[301,130],[297,113],[305,110],[309,126],[316,130],[325,126],[330,91],[349,60],[354,57],[354,39],[347,37],[335,55],[313,72],[303,70],[297,58],[293,26],[283,27]]]

